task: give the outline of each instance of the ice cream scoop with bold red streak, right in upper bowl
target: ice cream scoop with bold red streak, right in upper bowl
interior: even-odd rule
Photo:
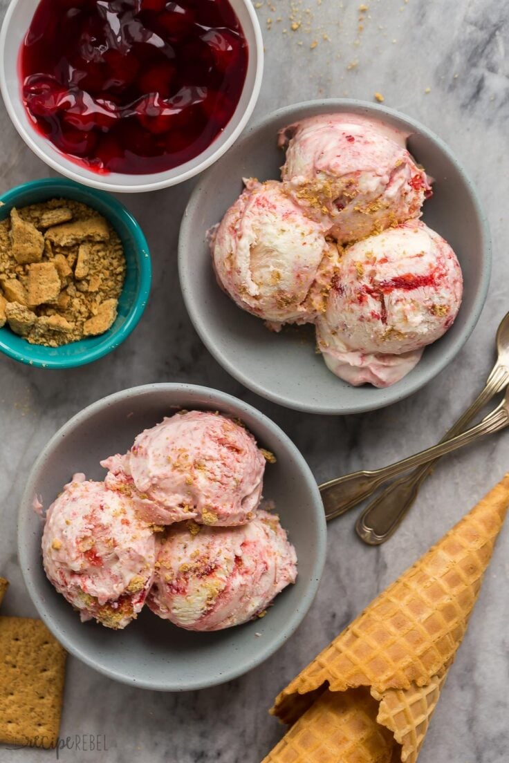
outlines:
[[[317,320],[318,347],[350,384],[388,387],[449,329],[461,299],[462,272],[449,244],[408,221],[344,250]]]

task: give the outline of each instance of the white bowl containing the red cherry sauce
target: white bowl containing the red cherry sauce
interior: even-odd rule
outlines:
[[[156,191],[157,188],[167,188],[169,185],[188,180],[211,166],[220,156],[223,156],[246,126],[253,113],[262,84],[263,38],[251,0],[230,0],[230,5],[234,8],[243,28],[250,55],[246,82],[244,82],[237,109],[216,140],[205,151],[185,164],[168,169],[166,172],[151,172],[147,175],[127,175],[120,172],[98,175],[72,162],[56,146],[53,146],[50,140],[37,133],[21,98],[21,82],[18,75],[19,52],[38,4],[38,0],[11,0],[7,9],[0,32],[0,90],[2,90],[5,108],[12,124],[24,142],[43,162],[57,172],[62,172],[68,178],[85,185],[92,185],[93,188],[103,188],[105,191],[124,193]]]

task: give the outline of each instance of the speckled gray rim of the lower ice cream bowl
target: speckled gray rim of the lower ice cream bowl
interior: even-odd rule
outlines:
[[[282,447],[292,456],[292,459],[295,460],[296,464],[298,464],[302,478],[308,485],[311,495],[314,495],[312,509],[317,523],[317,552],[316,558],[314,559],[314,563],[312,565],[312,574],[306,583],[306,587],[303,588],[300,606],[298,609],[295,609],[293,616],[288,618],[285,628],[280,631],[279,636],[277,636],[275,639],[272,639],[272,642],[266,645],[266,649],[261,655],[259,655],[258,658],[250,658],[250,655],[246,653],[245,662],[243,662],[242,665],[237,665],[236,668],[232,667],[230,671],[224,671],[221,674],[221,678],[213,679],[211,681],[196,681],[192,685],[179,686],[160,686],[150,684],[150,682],[143,683],[143,681],[134,680],[128,674],[121,674],[116,671],[108,670],[102,665],[98,665],[92,656],[82,652],[80,649],[77,649],[76,646],[72,643],[72,640],[67,638],[63,629],[60,629],[60,627],[56,626],[56,623],[54,623],[44,600],[42,600],[34,590],[30,572],[31,565],[34,560],[29,558],[29,555],[27,555],[24,542],[24,536],[27,534],[27,519],[25,519],[25,517],[28,517],[28,512],[26,509],[32,505],[34,500],[34,486],[37,482],[37,475],[40,471],[43,470],[47,459],[50,458],[50,454],[53,451],[54,446],[56,446],[56,443],[59,443],[60,439],[65,437],[66,434],[72,431],[76,426],[79,426],[79,424],[85,421],[91,414],[95,414],[100,410],[104,410],[111,404],[124,399],[132,398],[134,394],[143,394],[150,391],[165,389],[169,391],[179,391],[182,392],[182,394],[195,393],[197,396],[200,394],[204,396],[206,395],[208,398],[210,398],[211,407],[217,406],[219,410],[221,410],[221,404],[230,405],[237,409],[239,417],[242,417],[243,414],[250,414],[259,423],[260,429],[265,428],[266,430],[269,430],[274,436],[276,436],[281,442]],[[239,400],[239,398],[235,398],[233,395],[201,385],[177,383],[140,385],[138,387],[132,387],[120,392],[115,392],[114,394],[110,394],[106,398],[101,398],[95,403],[92,403],[91,405],[83,408],[83,410],[80,410],[79,413],[69,419],[69,421],[63,425],[63,427],[60,427],[60,430],[58,430],[47,443],[47,445],[43,447],[42,451],[40,452],[40,456],[38,456],[34,466],[31,468],[30,474],[28,475],[27,484],[24,488],[23,495],[21,497],[20,508],[18,511],[18,559],[21,567],[21,574],[23,575],[28,594],[34,603],[37,612],[40,614],[41,619],[47,625],[48,629],[50,629],[51,633],[53,633],[53,636],[55,636],[55,638],[63,645],[67,652],[74,655],[82,662],[85,662],[86,665],[89,665],[91,668],[94,668],[101,674],[107,675],[108,678],[113,678],[114,681],[120,681],[124,684],[130,684],[132,686],[150,689],[153,691],[192,691],[196,689],[205,689],[211,686],[217,686],[218,684],[224,684],[227,681],[231,681],[232,679],[243,675],[253,668],[256,668],[256,666],[260,665],[262,662],[265,662],[267,658],[273,655],[285,643],[285,641],[289,639],[293,633],[295,633],[295,630],[298,628],[298,626],[301,624],[301,621],[308,613],[308,609],[311,607],[311,604],[318,590],[318,585],[321,581],[326,553],[327,525],[325,522],[324,505],[321,500],[321,494],[317,486],[317,481],[315,480],[313,473],[311,472],[311,468],[309,468],[308,463],[305,461],[304,456],[302,456],[297,446],[295,446],[288,435],[285,434],[285,432],[283,432],[283,430],[276,423],[269,419],[269,417],[267,417],[265,414],[261,413],[261,411],[247,403],[244,403],[243,401]],[[38,559],[37,562],[42,565],[42,559]],[[277,601],[275,606],[277,606]]]

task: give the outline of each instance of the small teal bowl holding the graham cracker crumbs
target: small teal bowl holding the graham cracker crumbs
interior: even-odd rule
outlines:
[[[118,316],[113,326],[100,336],[87,336],[60,347],[29,344],[5,325],[0,329],[0,350],[5,355],[43,369],[69,369],[85,365],[111,353],[134,330],[147,305],[152,279],[147,240],[132,214],[107,193],[86,188],[63,178],[44,178],[11,188],[0,195],[0,220],[13,207],[26,207],[50,198],[71,198],[100,212],[117,231],[124,245],[126,278],[118,299]]]

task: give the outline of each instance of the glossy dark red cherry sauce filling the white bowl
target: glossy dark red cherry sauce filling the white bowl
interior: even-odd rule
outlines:
[[[211,145],[247,61],[228,0],[41,0],[20,74],[28,114],[63,153],[96,172],[142,174]]]

